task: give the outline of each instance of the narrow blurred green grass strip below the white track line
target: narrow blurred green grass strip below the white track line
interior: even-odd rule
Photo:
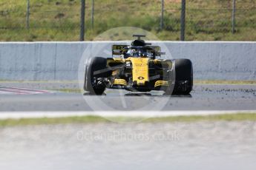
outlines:
[[[140,121],[142,120],[142,121]],[[100,116],[82,116],[68,118],[22,118],[0,120],[0,127],[27,126],[27,125],[50,125],[68,123],[173,123],[173,122],[198,122],[198,121],[256,121],[256,113],[207,115],[207,116],[174,116],[165,118],[102,118]]]

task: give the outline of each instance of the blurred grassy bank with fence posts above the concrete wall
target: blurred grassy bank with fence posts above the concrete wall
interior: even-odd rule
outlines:
[[[255,41],[255,21],[256,0],[0,0],[0,41],[92,41],[114,27],[166,41]]]

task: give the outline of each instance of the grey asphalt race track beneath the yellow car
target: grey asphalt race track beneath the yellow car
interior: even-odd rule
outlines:
[[[1,84],[0,111],[204,111],[256,110],[256,85],[195,84],[188,96],[163,92],[132,93],[108,89],[105,95],[45,89],[78,88],[76,84]],[[11,92],[10,91],[14,91]]]

